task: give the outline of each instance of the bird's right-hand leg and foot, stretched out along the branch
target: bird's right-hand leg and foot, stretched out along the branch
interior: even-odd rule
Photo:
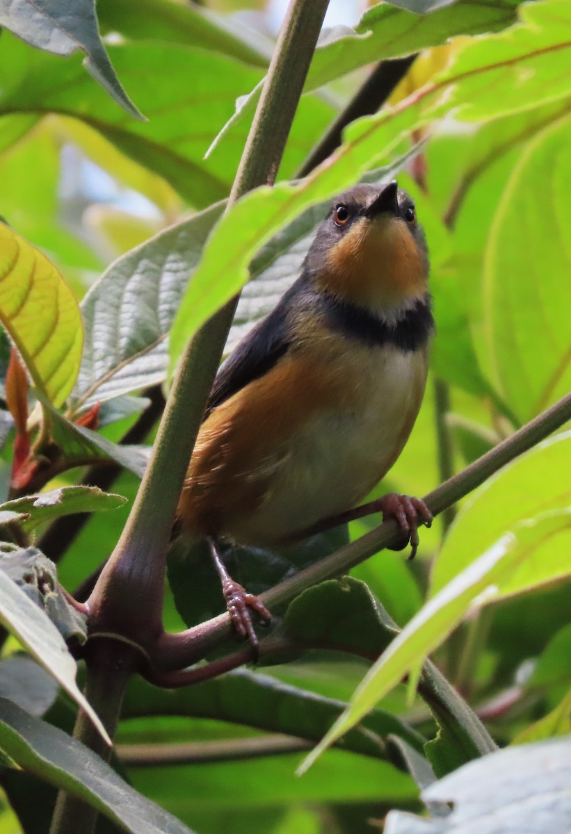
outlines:
[[[389,550],[402,550],[410,541],[412,550],[408,558],[409,560],[414,559],[418,550],[418,525],[422,524],[430,527],[432,524],[432,513],[422,498],[413,498],[411,495],[399,495],[397,492],[388,492],[387,495],[382,495],[381,498],[369,501],[368,504],[361,504],[360,507],[353,507],[352,510],[346,510],[344,513],[331,515],[330,518],[318,521],[316,525],[312,525],[307,530],[303,530],[299,538],[306,538],[308,535],[315,535],[316,533],[322,533],[324,530],[331,530],[331,527],[346,524],[349,521],[355,521],[364,515],[371,515],[372,513],[382,513],[383,521],[391,518],[397,520],[404,534],[404,538],[398,545],[392,545]]]

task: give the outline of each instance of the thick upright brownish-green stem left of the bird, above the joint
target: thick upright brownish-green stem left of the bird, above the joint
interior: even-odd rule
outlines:
[[[291,3],[228,207],[275,178],[327,3]],[[151,641],[162,631],[164,563],[174,511],[236,303],[232,299],[220,309],[184,351],[133,510],[88,600],[99,627]]]

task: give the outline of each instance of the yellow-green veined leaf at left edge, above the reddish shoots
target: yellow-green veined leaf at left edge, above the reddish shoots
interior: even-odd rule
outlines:
[[[0,248],[0,321],[38,389],[60,405],[81,360],[78,302],[46,256],[4,224]]]

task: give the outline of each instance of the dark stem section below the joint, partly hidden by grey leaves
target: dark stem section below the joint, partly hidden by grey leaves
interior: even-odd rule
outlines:
[[[125,686],[129,675],[139,660],[137,652],[116,641],[96,640],[89,647],[85,695],[97,705],[97,711],[109,736],[113,738],[123,704]],[[80,710],[73,729],[73,736],[109,761],[109,747],[93,722]],[[99,811],[86,805],[77,796],[59,791],[53,812],[50,834],[93,834]]]

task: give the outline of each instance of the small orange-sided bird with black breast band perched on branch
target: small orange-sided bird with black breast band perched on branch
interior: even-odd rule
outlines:
[[[356,503],[401,454],[427,381],[434,329],[427,244],[397,183],[333,201],[301,276],[221,365],[177,510],[208,538],[230,616],[257,646],[254,595],[230,579],[216,540],[282,545],[364,513]],[[421,500],[385,495],[416,552]],[[401,545],[404,546],[404,545]]]

